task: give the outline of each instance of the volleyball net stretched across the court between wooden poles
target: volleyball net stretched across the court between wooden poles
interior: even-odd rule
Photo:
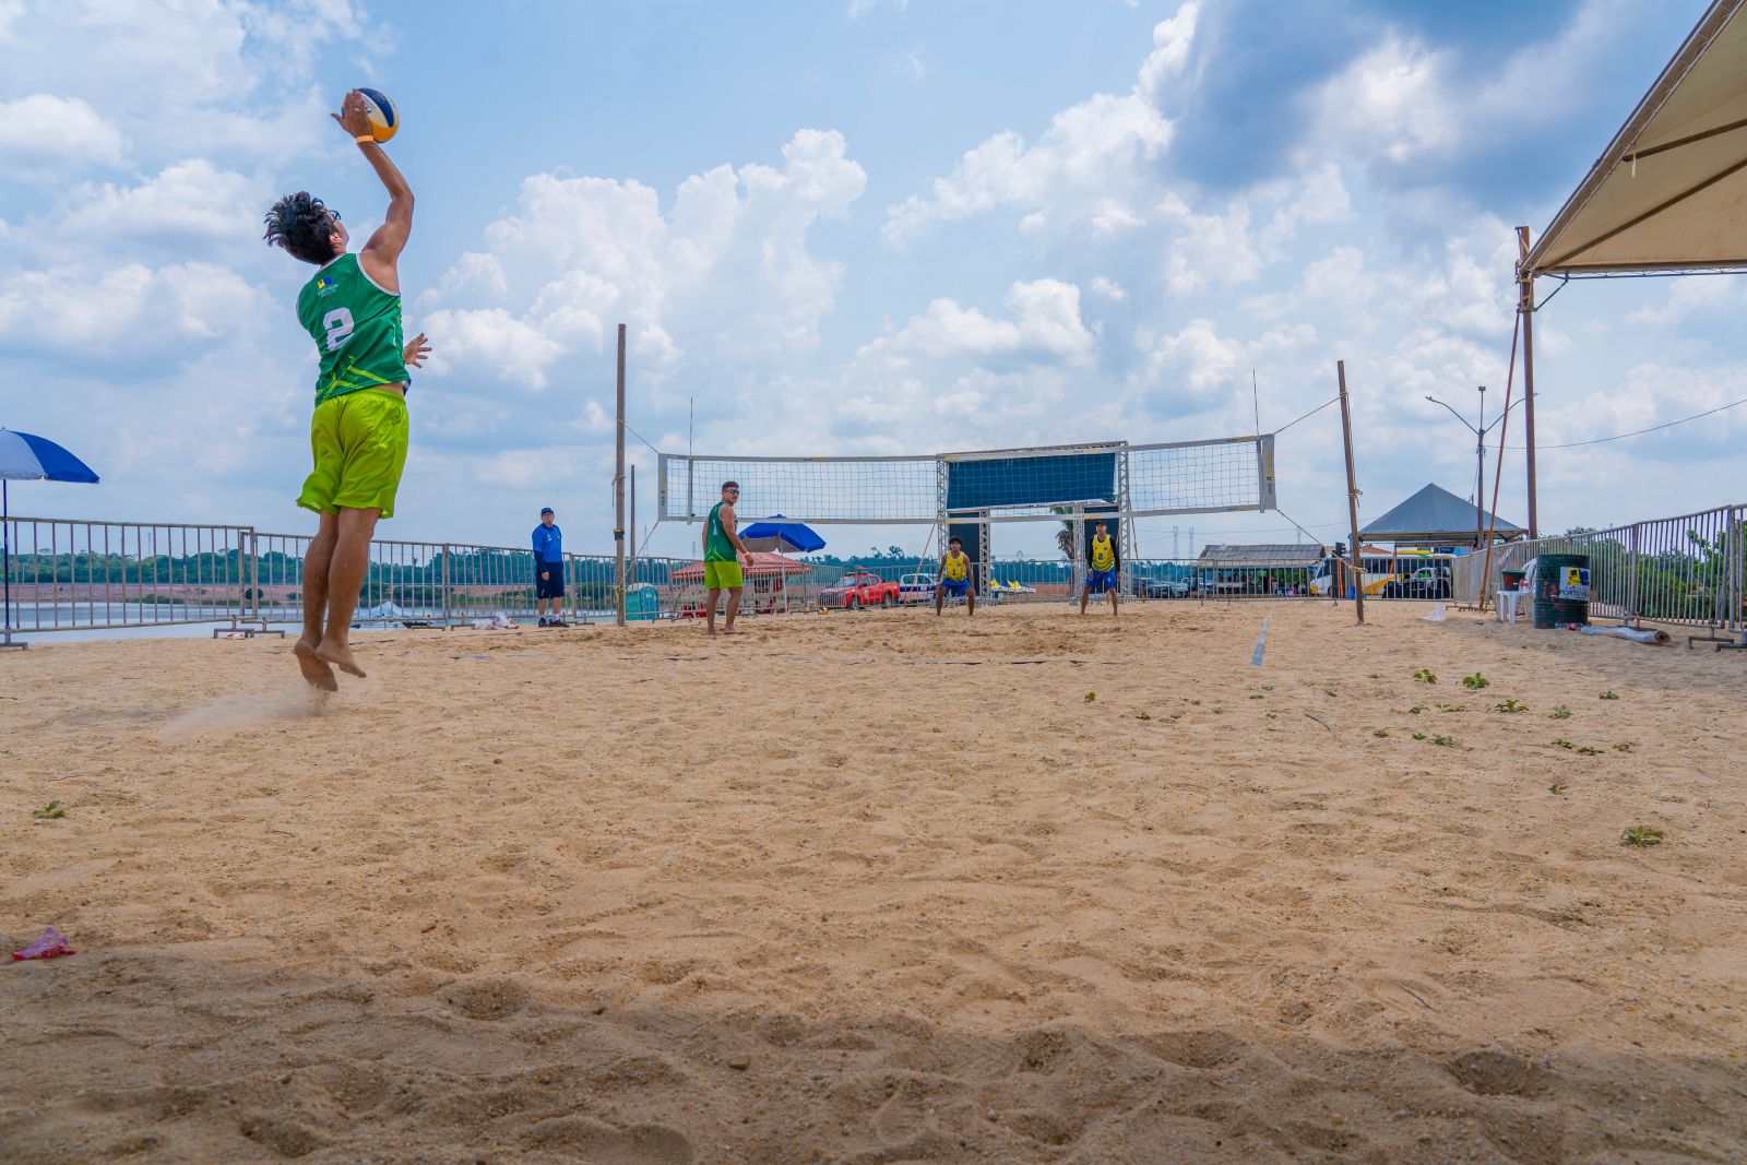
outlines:
[[[905,458],[660,454],[664,522],[699,522],[741,487],[739,520],[1036,522],[1277,508],[1274,435],[1132,445],[1102,442]]]

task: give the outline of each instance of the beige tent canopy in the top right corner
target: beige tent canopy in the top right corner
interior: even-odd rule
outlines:
[[[1522,276],[1747,267],[1747,0],[1714,0]]]

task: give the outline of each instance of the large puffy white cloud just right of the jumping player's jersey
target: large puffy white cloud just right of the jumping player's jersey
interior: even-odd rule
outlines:
[[[489,320],[554,346],[519,374],[543,372],[556,353],[604,351],[618,320],[638,337],[645,383],[678,374],[690,349],[715,365],[807,351],[840,279],[809,252],[809,231],[842,217],[865,185],[842,134],[814,129],[783,147],[781,169],[687,178],[666,215],[638,182],[535,175],[515,211],[486,227],[487,250],[463,255],[419,304],[494,309]]]

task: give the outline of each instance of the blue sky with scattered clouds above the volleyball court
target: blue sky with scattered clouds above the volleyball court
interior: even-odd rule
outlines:
[[[571,548],[608,550],[618,321],[631,423],[669,449],[692,402],[701,452],[1223,437],[1254,424],[1253,370],[1275,428],[1345,358],[1366,515],[1426,480],[1466,496],[1471,437],[1424,395],[1502,389],[1511,229],[1546,224],[1702,9],[0,0],[0,424],[105,479],[14,505],[309,527],[307,269],[259,222],[295,189],[355,232],[379,217],[325,115],[353,84],[405,119],[402,286],[437,348],[384,536],[521,545],[550,503]],[[1731,278],[1560,295],[1543,442],[1747,396],[1742,307]],[[1744,414],[1544,452],[1543,526],[1738,501]],[[1333,410],[1279,468],[1333,541]],[[1176,524],[1289,538],[1277,514]]]

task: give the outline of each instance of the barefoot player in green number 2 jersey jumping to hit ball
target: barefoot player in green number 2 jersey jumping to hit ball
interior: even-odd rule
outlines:
[[[297,320],[316,342],[316,410],[309,423],[314,470],[297,505],[321,515],[304,554],[304,636],[297,665],[334,692],[334,669],[363,676],[348,631],[370,564],[379,517],[393,517],[407,461],[407,365],[425,363],[419,334],[402,342],[400,252],[412,231],[412,187],[370,136],[363,96],[353,89],[332,115],[388,187],[388,215],[358,255],[321,199],[299,190],[267,211],[267,243],[320,271],[297,297]]]

